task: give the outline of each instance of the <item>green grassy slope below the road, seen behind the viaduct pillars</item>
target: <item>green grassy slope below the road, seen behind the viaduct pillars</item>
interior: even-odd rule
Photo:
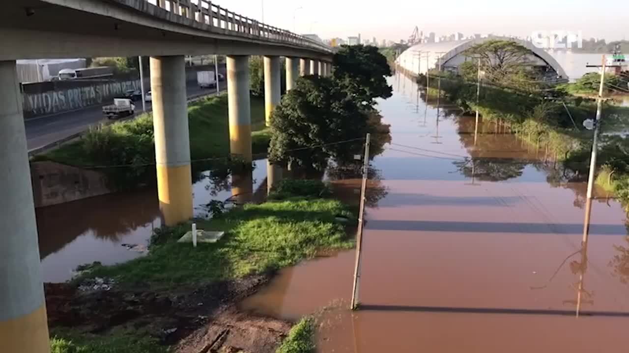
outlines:
[[[264,126],[264,100],[252,97],[252,147],[266,153],[269,130]],[[229,155],[227,95],[209,97],[188,106],[192,169],[206,170],[213,163],[198,161]],[[52,160],[104,171],[116,188],[155,182],[155,144],[152,114],[92,129],[83,138],[53,149],[33,160]],[[216,164],[216,163],[214,163]]]

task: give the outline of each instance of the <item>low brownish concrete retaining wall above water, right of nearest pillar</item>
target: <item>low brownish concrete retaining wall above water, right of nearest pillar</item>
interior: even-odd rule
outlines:
[[[111,193],[106,176],[52,161],[31,162],[35,207],[63,204]]]

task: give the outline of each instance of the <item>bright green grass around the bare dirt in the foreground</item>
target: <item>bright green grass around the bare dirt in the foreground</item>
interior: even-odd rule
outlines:
[[[353,219],[321,182],[284,180],[272,201],[235,208],[209,220],[196,220],[199,229],[225,231],[215,244],[177,243],[190,229],[190,222],[155,231],[147,256],[113,266],[91,266],[85,278],[111,278],[118,290],[145,290],[160,293],[199,288],[216,281],[234,280],[250,274],[269,273],[291,266],[327,249],[348,249],[353,240],[345,224],[335,217]],[[355,220],[352,220],[352,222]],[[51,329],[53,346],[72,342],[70,353],[165,352],[146,332],[114,328],[104,334],[88,334],[80,328]],[[311,352],[312,322],[299,322],[278,350],[282,353]]]

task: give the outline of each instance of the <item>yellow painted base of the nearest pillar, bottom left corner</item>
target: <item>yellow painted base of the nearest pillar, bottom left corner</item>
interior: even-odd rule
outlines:
[[[50,353],[45,304],[23,317],[0,322],[0,352]]]

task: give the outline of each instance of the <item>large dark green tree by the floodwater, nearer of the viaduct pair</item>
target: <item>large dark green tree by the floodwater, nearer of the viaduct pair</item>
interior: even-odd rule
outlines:
[[[334,80],[303,77],[273,112],[269,159],[306,171],[323,170],[330,157],[340,163],[352,160],[362,148],[368,120]],[[338,141],[348,142],[331,144]]]

